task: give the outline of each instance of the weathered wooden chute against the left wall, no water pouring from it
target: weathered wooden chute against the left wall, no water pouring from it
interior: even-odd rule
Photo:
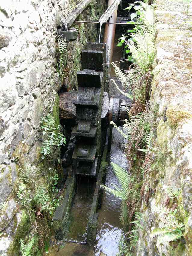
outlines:
[[[71,11],[68,14],[67,18],[63,22],[63,27],[65,30],[67,30],[69,27],[71,27],[71,25],[76,20],[76,18],[79,16],[79,14],[81,14],[82,11],[84,11],[84,9],[91,3],[91,1],[92,0],[81,1],[79,3],[79,5],[77,5],[77,7],[75,9],[73,9],[73,11]]]

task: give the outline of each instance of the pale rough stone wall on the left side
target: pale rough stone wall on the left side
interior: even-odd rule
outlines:
[[[22,217],[15,196],[17,170],[21,160],[34,168],[41,160],[41,117],[52,113],[55,106],[53,114],[58,119],[57,92],[62,81],[56,72],[56,32],[74,8],[74,2],[7,0],[0,3],[0,203],[3,208],[0,255],[7,255],[19,223],[24,219],[26,226],[29,222],[25,214]],[[100,14],[104,1],[93,1],[80,18],[91,19],[94,6]],[[91,41],[97,37],[96,27],[89,33],[85,33],[85,28],[78,32],[78,39],[67,48],[68,57],[72,56],[68,83],[76,80],[76,70],[81,67],[79,52],[85,46],[86,36]]]

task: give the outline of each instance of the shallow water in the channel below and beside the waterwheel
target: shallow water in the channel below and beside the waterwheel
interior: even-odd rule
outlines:
[[[127,160],[123,153],[123,144],[125,143],[122,136],[113,128],[112,145],[109,155],[109,161],[119,164],[127,168]],[[85,184],[86,183],[86,184]],[[111,183],[120,186],[119,182],[112,170],[108,167],[106,185],[113,188]],[[77,194],[74,199],[68,241],[63,246],[55,245],[50,248],[49,256],[99,256],[101,252],[107,256],[115,256],[118,253],[118,244],[121,236],[123,236],[122,227],[119,221],[121,200],[104,191],[101,209],[98,209],[98,229],[95,246],[89,246],[85,243],[86,224],[88,214],[91,207],[91,200],[94,193],[93,180],[82,180],[79,182]]]

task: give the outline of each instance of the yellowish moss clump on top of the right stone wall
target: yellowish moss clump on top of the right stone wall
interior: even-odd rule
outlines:
[[[177,128],[178,124],[186,119],[192,119],[192,114],[179,108],[169,106],[166,111],[167,121],[171,128]]]

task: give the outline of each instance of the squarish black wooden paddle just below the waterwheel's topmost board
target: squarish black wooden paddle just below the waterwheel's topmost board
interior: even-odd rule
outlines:
[[[103,71],[104,52],[101,51],[87,51],[81,52],[81,66],[83,69],[91,69],[96,71]]]

